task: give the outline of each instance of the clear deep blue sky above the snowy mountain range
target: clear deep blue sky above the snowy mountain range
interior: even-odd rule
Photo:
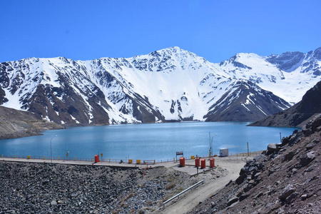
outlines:
[[[0,62],[131,57],[179,46],[219,63],[321,46],[321,0],[0,0]]]

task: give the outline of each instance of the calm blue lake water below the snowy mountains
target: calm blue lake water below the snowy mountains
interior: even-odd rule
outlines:
[[[208,156],[210,137],[213,153],[228,148],[230,153],[265,150],[268,143],[280,143],[280,133],[290,136],[295,128],[252,127],[249,123],[191,122],[90,126],[46,131],[43,136],[0,141],[0,155],[50,156],[158,160]],[[51,146],[50,146],[51,145]]]

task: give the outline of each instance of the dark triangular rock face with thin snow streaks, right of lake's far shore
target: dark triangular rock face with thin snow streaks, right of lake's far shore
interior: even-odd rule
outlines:
[[[206,121],[257,121],[289,107],[282,98],[250,81],[238,81],[210,107],[204,118]]]

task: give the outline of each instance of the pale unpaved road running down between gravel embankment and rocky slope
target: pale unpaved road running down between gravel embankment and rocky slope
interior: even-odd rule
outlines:
[[[225,168],[227,175],[215,180],[210,180],[206,174],[198,175],[200,180],[205,180],[203,185],[184,193],[178,200],[166,204],[165,208],[158,210],[158,213],[187,213],[198,205],[200,201],[209,198],[218,190],[224,188],[230,180],[238,178],[240,169],[243,168],[245,163],[246,159],[243,157],[215,158],[215,164],[220,168]]]

